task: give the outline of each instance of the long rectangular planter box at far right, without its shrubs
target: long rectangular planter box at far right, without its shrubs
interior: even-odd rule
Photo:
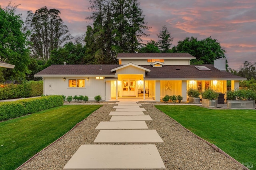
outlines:
[[[255,109],[255,100],[227,100],[228,109]]]

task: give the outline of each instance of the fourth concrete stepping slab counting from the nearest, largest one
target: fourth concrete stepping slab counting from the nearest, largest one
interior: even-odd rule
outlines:
[[[150,115],[114,115],[110,121],[152,121]]]

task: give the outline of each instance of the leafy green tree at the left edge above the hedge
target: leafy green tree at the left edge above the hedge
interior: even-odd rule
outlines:
[[[14,69],[2,68],[1,80],[24,80],[29,73],[28,33],[22,32],[24,22],[16,15],[16,8],[11,3],[4,9],[0,6],[0,60],[14,64]]]

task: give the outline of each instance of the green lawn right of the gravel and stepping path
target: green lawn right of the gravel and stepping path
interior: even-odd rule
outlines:
[[[256,111],[156,105],[181,125],[256,169]]]

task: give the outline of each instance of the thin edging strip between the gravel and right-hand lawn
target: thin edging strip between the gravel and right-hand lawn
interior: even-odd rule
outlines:
[[[156,108],[156,107],[155,107]],[[156,108],[158,109],[158,108]],[[159,110],[159,109],[158,109]],[[159,110],[161,111],[161,110]],[[164,113],[163,111],[161,111],[162,113]],[[165,113],[164,113],[165,114]],[[170,117],[169,115],[165,114],[167,117]],[[224,152],[223,150],[221,150],[219,147],[217,147],[216,145],[206,141],[205,139],[199,137],[198,135],[194,134],[193,132],[191,132],[190,130],[188,130],[186,127],[182,126],[178,121],[176,121],[175,119],[173,119],[172,117],[170,117],[170,119],[172,119],[173,121],[175,121],[176,123],[178,123],[178,125],[180,125],[181,127],[183,127],[186,131],[192,133],[193,135],[195,135],[198,139],[204,141],[205,143],[207,143],[208,145],[210,145],[214,150],[216,150],[217,152],[220,152],[221,154],[224,154],[226,157],[230,158],[232,161],[236,162],[237,164],[239,164],[240,166],[242,166],[242,168],[244,168],[245,170],[250,170],[248,169],[246,166],[244,166],[243,164],[241,164],[240,162],[238,162],[236,159],[234,159],[232,156],[230,156],[229,154],[227,154],[226,152]]]

